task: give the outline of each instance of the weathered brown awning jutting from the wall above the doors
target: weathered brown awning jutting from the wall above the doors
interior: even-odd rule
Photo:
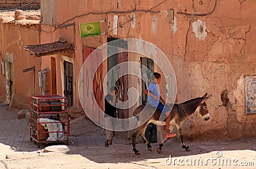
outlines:
[[[24,46],[24,49],[28,50],[36,57],[74,51],[74,47],[70,43],[67,43],[67,41],[56,41],[54,43],[45,43],[40,45],[26,45]]]

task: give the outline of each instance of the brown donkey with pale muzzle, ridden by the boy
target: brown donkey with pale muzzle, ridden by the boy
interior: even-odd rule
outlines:
[[[208,121],[210,119],[210,115],[207,110],[207,105],[206,105],[205,101],[207,99],[209,99],[210,97],[211,96],[207,96],[207,93],[205,93],[205,95],[202,96],[202,98],[194,98],[189,101],[185,101],[184,103],[173,105],[173,108],[171,110],[172,117],[171,117],[169,129],[170,129],[170,131],[172,131],[173,128],[176,126],[177,131],[179,133],[180,143],[182,145],[182,148],[185,149],[186,151],[190,151],[190,150],[189,150],[189,147],[186,146],[183,141],[183,136],[182,136],[182,131],[181,131],[182,123],[185,121],[186,117],[188,117],[189,115],[196,112],[196,110],[198,110],[198,113],[200,115],[202,115],[202,117],[205,121]],[[139,120],[139,119],[143,118],[143,116],[142,117],[140,116],[141,111],[150,113],[150,111],[154,112],[155,110],[156,110],[156,108],[152,108],[148,105],[140,105],[139,107],[137,107],[134,110],[133,114]],[[159,121],[160,115],[161,115],[161,112],[159,110],[156,110],[154,112],[154,114],[150,117],[150,119],[148,119],[147,122],[145,122],[140,127],[138,127],[136,129],[136,131],[134,132],[134,134],[132,135],[132,151],[134,151],[136,155],[140,155],[140,152],[135,147],[135,140],[138,137],[138,135],[140,135],[143,138],[143,140],[145,141],[145,143],[148,147],[148,151],[152,151],[152,147],[151,147],[150,143],[148,142],[147,138],[145,138],[145,130],[150,122],[152,122],[153,124],[159,125],[159,126],[164,126],[166,124],[166,122]],[[140,120],[139,120],[139,122],[140,122]],[[161,142],[159,144],[159,147],[157,148],[158,153],[161,153],[163,144],[169,139],[170,138],[164,138],[163,142]]]

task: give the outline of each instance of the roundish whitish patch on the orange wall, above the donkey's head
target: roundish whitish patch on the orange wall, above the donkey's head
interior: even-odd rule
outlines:
[[[205,40],[207,36],[205,22],[202,22],[202,20],[198,19],[196,22],[193,22],[192,27],[196,38],[198,38],[198,40]]]

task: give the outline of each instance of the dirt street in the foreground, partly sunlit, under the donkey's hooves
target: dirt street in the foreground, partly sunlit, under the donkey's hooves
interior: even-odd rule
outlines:
[[[6,121],[12,122],[6,118],[0,122]],[[138,143],[138,156],[132,152],[131,140],[117,137],[114,145],[104,147],[104,130],[84,117],[72,119],[70,133],[71,140],[89,141],[86,146],[72,142],[40,149],[33,142],[22,149],[0,142],[0,168],[256,168],[256,138],[189,140],[186,145],[190,152],[181,148],[178,138],[173,138],[164,144],[161,154],[156,151],[157,143],[152,143],[153,151]]]

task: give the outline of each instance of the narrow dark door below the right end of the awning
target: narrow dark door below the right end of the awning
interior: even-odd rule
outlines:
[[[74,105],[74,68],[72,63],[64,61],[64,75],[64,95],[68,100],[68,107],[72,107]]]

